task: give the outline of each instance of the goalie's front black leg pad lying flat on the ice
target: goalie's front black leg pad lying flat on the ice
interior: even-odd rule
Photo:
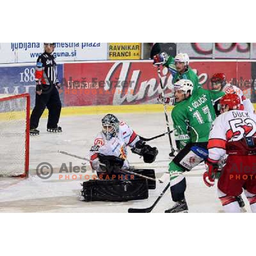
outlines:
[[[89,180],[83,183],[81,195],[84,201],[125,202],[148,198],[148,181],[134,180]]]

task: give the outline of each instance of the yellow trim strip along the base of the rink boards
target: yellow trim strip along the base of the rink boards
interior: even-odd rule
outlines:
[[[253,104],[256,109],[256,103]],[[168,106],[170,111],[173,106]],[[84,106],[84,107],[65,107],[61,110],[61,116],[81,116],[81,115],[97,115],[105,113],[161,113],[163,105],[161,104],[145,104],[145,105],[105,105],[105,106]],[[42,118],[47,118],[48,110],[46,109]],[[0,120],[17,120],[24,119],[23,111],[0,113]]]

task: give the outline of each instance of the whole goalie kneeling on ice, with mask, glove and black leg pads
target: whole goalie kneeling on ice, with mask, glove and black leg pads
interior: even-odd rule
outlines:
[[[140,140],[140,137],[113,114],[102,119],[102,131],[96,136],[90,149],[93,171],[99,180],[84,182],[82,196],[85,201],[128,201],[148,197],[148,189],[155,188],[155,182],[129,175],[125,170],[128,163],[128,148],[143,157],[145,163],[153,163],[158,150]],[[101,165],[102,163],[103,165]],[[155,178],[153,169],[132,169],[144,176]],[[92,195],[92,193],[94,193]]]

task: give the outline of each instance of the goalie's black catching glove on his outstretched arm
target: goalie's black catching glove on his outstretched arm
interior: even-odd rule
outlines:
[[[131,148],[131,151],[134,154],[138,154],[143,157],[145,163],[153,163],[157,157],[158,150],[156,147],[152,148],[150,145],[147,145],[144,141],[139,140],[135,144],[134,148]]]

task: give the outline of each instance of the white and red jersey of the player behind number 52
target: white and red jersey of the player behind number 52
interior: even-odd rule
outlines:
[[[239,87],[237,87],[236,85],[233,85],[233,84],[226,84],[222,88],[222,91],[226,94],[236,93],[236,95],[239,96],[240,101],[241,101],[241,110],[246,110],[249,113],[254,113],[253,104],[251,103],[250,99],[247,99],[244,96],[243,91]]]

